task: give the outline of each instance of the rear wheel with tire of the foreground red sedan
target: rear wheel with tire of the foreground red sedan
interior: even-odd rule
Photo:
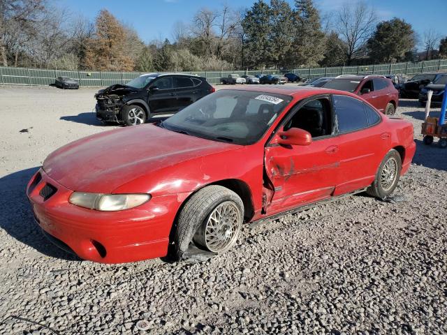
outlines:
[[[380,163],[376,177],[371,186],[367,188],[366,193],[375,198],[385,199],[395,190],[399,182],[401,170],[402,160],[400,154],[395,149],[391,149],[383,158],[382,163]],[[393,175],[391,176],[390,173],[393,173]]]

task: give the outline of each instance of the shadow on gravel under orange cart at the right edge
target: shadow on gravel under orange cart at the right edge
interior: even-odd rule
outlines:
[[[437,139],[431,145],[425,145],[421,140],[416,142],[416,154],[413,163],[426,168],[447,171],[447,149],[438,147]]]

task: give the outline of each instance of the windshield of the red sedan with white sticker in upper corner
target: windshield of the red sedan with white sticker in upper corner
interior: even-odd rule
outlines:
[[[281,94],[221,90],[177,112],[161,126],[219,142],[253,144],[291,100]]]

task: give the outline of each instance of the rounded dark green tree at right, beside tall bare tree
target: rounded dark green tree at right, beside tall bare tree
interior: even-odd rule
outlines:
[[[411,24],[397,17],[377,24],[367,42],[369,56],[375,63],[403,61],[406,53],[414,46],[415,36]]]

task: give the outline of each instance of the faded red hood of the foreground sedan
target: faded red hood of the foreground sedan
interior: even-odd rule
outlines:
[[[73,191],[111,193],[147,174],[162,179],[156,171],[167,166],[238,147],[145,124],[66,144],[45,159],[43,170]]]

